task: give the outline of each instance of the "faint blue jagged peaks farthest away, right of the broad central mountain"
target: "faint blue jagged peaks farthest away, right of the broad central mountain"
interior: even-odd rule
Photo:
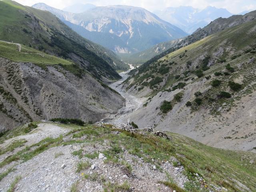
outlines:
[[[203,10],[191,6],[168,7],[154,13],[189,34],[192,34],[198,28],[203,28],[216,18],[228,18],[233,15],[226,9],[211,6]]]

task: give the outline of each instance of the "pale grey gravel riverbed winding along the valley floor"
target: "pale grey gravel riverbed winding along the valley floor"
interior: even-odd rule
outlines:
[[[130,70],[134,69],[132,65],[130,65],[130,68],[131,68]],[[128,72],[130,72],[130,70],[120,73],[119,75],[122,76],[122,79],[120,81],[114,82],[109,85],[112,89],[116,90],[125,98],[126,105],[120,110],[118,110],[116,114],[112,114],[107,119],[105,119],[104,120],[105,122],[108,122],[108,123],[122,122],[122,119],[125,116],[128,117],[130,113],[138,110],[138,108],[142,106],[142,103],[145,100],[145,98],[137,98],[125,92],[124,87],[122,86],[122,82],[129,77]]]

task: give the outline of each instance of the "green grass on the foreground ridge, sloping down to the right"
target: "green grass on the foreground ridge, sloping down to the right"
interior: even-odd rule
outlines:
[[[198,191],[217,191],[213,186],[226,188],[228,192],[242,192],[256,190],[256,154],[250,152],[238,152],[230,150],[221,150],[212,148],[196,142],[179,134],[168,133],[172,136],[172,140],[166,140],[152,134],[140,135],[131,134],[130,132],[120,131],[120,134],[113,134],[112,126],[100,128],[96,126],[74,126],[62,125],[72,128],[66,136],[73,135],[70,140],[64,142],[61,136],[56,139],[46,138],[42,142],[33,146],[38,146],[34,149],[33,146],[27,147],[21,152],[17,152],[13,156],[6,158],[0,162],[0,166],[9,164],[15,160],[27,161],[37,154],[47,150],[50,147],[69,145],[75,143],[90,142],[92,144],[104,144],[106,140],[111,141],[113,150],[124,147],[129,153],[134,154],[144,159],[144,162],[152,163],[160,168],[162,161],[170,161],[170,157],[176,157],[185,170],[183,174],[188,176],[189,182],[186,183],[185,189],[190,192]],[[19,129],[22,131],[22,129]],[[0,138],[4,140],[12,136],[14,130],[6,132]],[[22,132],[22,134],[24,134]],[[18,134],[16,133],[15,136]],[[86,135],[86,140],[80,140]],[[66,139],[65,139],[66,140]],[[120,158],[122,150],[118,153],[103,151],[108,160],[106,162],[116,162],[116,158]],[[154,159],[154,162],[152,162]],[[253,163],[250,163],[254,161]],[[195,173],[202,177],[199,182]],[[182,190],[177,190],[182,191]]]

